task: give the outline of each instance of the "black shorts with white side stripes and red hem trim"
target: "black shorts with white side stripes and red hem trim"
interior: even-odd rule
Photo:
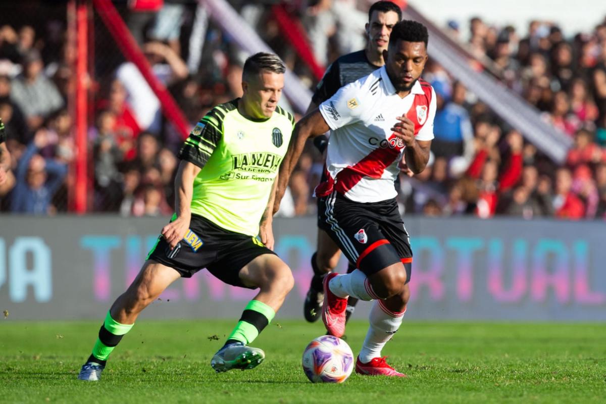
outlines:
[[[402,262],[410,281],[413,252],[395,199],[361,203],[333,192],[318,199],[318,227],[367,276]]]

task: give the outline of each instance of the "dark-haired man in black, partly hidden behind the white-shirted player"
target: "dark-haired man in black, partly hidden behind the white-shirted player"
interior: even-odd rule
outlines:
[[[328,67],[324,77],[316,87],[307,112],[318,108],[318,105],[331,98],[339,88],[382,67],[385,64],[383,51],[387,50],[391,28],[401,19],[401,8],[391,1],[378,1],[371,5],[370,10],[368,10],[368,24],[366,24],[366,48],[343,55]],[[318,136],[313,139],[313,142],[318,150],[324,153],[328,144],[328,137]],[[308,322],[315,322],[320,317],[320,308],[324,300],[322,280],[324,280],[326,274],[336,268],[339,257],[341,257],[341,250],[318,225],[318,249],[311,256],[313,278],[303,308],[305,320]],[[350,273],[355,269],[355,265],[349,263],[347,272]],[[357,302],[358,299],[355,297],[348,299],[347,319],[353,313]]]

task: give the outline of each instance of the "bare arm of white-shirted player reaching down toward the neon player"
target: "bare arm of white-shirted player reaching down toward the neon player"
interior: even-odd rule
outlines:
[[[328,130],[330,130],[330,127],[328,127],[328,124],[324,121],[324,117],[317,108],[305,115],[304,118],[295,125],[293,136],[288,144],[288,150],[280,165],[278,188],[276,189],[276,200],[273,204],[273,213],[276,213],[280,208],[280,201],[286,192],[290,174],[295,170],[299,157],[301,157],[305,141],[310,137],[318,136]]]

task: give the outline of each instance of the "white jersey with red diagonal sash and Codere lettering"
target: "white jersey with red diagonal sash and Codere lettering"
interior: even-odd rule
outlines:
[[[342,87],[319,110],[331,133],[327,180],[316,187],[316,196],[337,191],[355,202],[379,202],[397,194],[393,182],[405,145],[391,131],[399,122],[396,116],[406,114],[415,124],[416,139],[430,141],[436,94],[419,79],[401,98],[382,67]]]

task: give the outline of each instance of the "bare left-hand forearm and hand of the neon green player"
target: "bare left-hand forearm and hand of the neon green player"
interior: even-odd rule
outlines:
[[[193,196],[193,180],[202,170],[197,165],[181,161],[175,177],[175,208],[177,218],[162,228],[162,236],[175,248],[185,236],[191,220],[191,197]]]

